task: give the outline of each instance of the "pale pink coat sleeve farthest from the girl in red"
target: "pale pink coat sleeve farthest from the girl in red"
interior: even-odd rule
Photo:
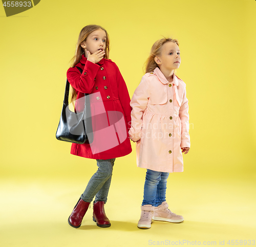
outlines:
[[[188,115],[188,99],[186,97],[186,88],[184,89],[183,99],[180,106],[179,117],[181,120],[181,145],[180,147],[190,148],[189,137],[189,115]]]

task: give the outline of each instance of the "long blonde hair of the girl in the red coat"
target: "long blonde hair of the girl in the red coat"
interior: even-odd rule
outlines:
[[[76,43],[75,56],[71,59],[71,67],[74,67],[81,60],[81,57],[84,54],[84,49],[82,49],[80,44],[83,41],[86,41],[89,34],[91,34],[92,32],[94,32],[95,30],[98,30],[98,29],[102,29],[106,33],[106,48],[105,48],[105,55],[103,58],[109,59],[110,37],[109,37],[108,32],[106,32],[106,30],[104,28],[102,28],[101,26],[87,25],[86,27],[82,28],[82,30],[79,33],[78,41]],[[71,88],[72,88],[71,101],[74,102],[76,100],[77,94],[76,94],[75,88],[73,86],[71,86]]]

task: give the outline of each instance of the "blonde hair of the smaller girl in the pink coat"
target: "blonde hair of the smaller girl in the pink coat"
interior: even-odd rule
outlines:
[[[152,72],[158,67],[158,64],[155,61],[155,57],[161,55],[162,46],[167,42],[174,42],[177,43],[177,45],[179,46],[179,41],[177,39],[164,37],[162,39],[157,40],[151,48],[150,56],[148,56],[144,63],[145,73]]]

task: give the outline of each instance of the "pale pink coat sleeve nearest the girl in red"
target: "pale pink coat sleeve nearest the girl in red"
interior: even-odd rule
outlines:
[[[132,106],[132,123],[129,136],[133,141],[141,139],[142,116],[146,109],[148,98],[150,97],[148,83],[145,77],[142,77],[139,86],[135,89],[131,100]]]

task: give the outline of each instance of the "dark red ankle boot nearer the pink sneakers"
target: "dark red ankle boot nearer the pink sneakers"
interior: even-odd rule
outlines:
[[[98,227],[110,227],[111,223],[104,211],[104,201],[97,201],[93,204],[93,221]]]

